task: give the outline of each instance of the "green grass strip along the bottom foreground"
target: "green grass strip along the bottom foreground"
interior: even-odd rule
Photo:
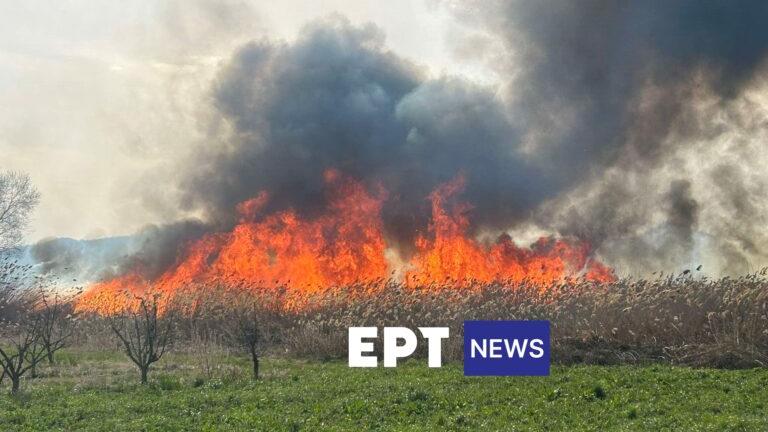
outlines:
[[[165,359],[134,383],[112,353],[64,353],[15,398],[2,431],[766,430],[768,371],[554,367],[546,378],[467,377],[460,364],[349,369],[343,362]]]

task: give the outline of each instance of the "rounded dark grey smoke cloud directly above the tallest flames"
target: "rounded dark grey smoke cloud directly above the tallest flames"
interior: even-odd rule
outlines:
[[[385,49],[373,25],[332,17],[290,45],[248,44],[212,99],[229,133],[182,169],[183,200],[225,224],[262,190],[271,209],[316,212],[328,168],[385,187],[385,228],[401,245],[426,228],[427,195],[459,173],[477,227],[503,229],[553,192],[518,151],[518,131],[490,89],[425,78]]]

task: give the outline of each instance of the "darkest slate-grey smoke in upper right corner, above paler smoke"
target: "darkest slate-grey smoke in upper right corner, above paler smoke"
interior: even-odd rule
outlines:
[[[620,147],[636,159],[661,157],[696,74],[707,72],[698,84],[722,98],[736,97],[768,49],[768,5],[757,1],[474,5],[521,69],[509,99],[530,151],[553,172],[565,168],[567,184]]]

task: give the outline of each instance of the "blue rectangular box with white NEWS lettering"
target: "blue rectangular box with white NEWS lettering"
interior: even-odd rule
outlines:
[[[549,375],[549,321],[464,321],[464,375]]]

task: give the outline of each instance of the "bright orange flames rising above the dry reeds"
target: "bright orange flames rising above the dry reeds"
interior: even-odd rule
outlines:
[[[386,191],[378,187],[370,193],[336,170],[326,171],[324,181],[330,203],[324,213],[314,218],[291,209],[263,214],[270,196],[261,192],[237,206],[239,222],[231,231],[185,245],[176,263],[153,280],[141,276],[137,267],[95,284],[78,301],[78,310],[113,314],[128,306],[131,295],[150,288],[169,298],[190,286],[285,287],[300,297],[385,281],[397,270],[386,258],[381,219]],[[574,275],[598,282],[614,278],[610,268],[589,259],[590,248],[583,243],[543,238],[531,248],[520,248],[508,235],[490,246],[471,238],[470,206],[449,205],[463,186],[463,177],[458,177],[429,196],[432,222],[408,261],[407,286],[500,280],[544,286]]]

